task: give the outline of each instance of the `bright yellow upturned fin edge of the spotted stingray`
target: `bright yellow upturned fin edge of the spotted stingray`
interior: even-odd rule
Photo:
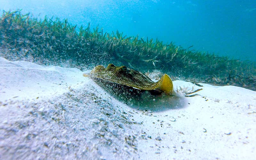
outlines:
[[[156,89],[161,90],[166,94],[172,94],[173,84],[171,78],[167,74],[164,74],[157,83],[160,83],[160,86]]]

